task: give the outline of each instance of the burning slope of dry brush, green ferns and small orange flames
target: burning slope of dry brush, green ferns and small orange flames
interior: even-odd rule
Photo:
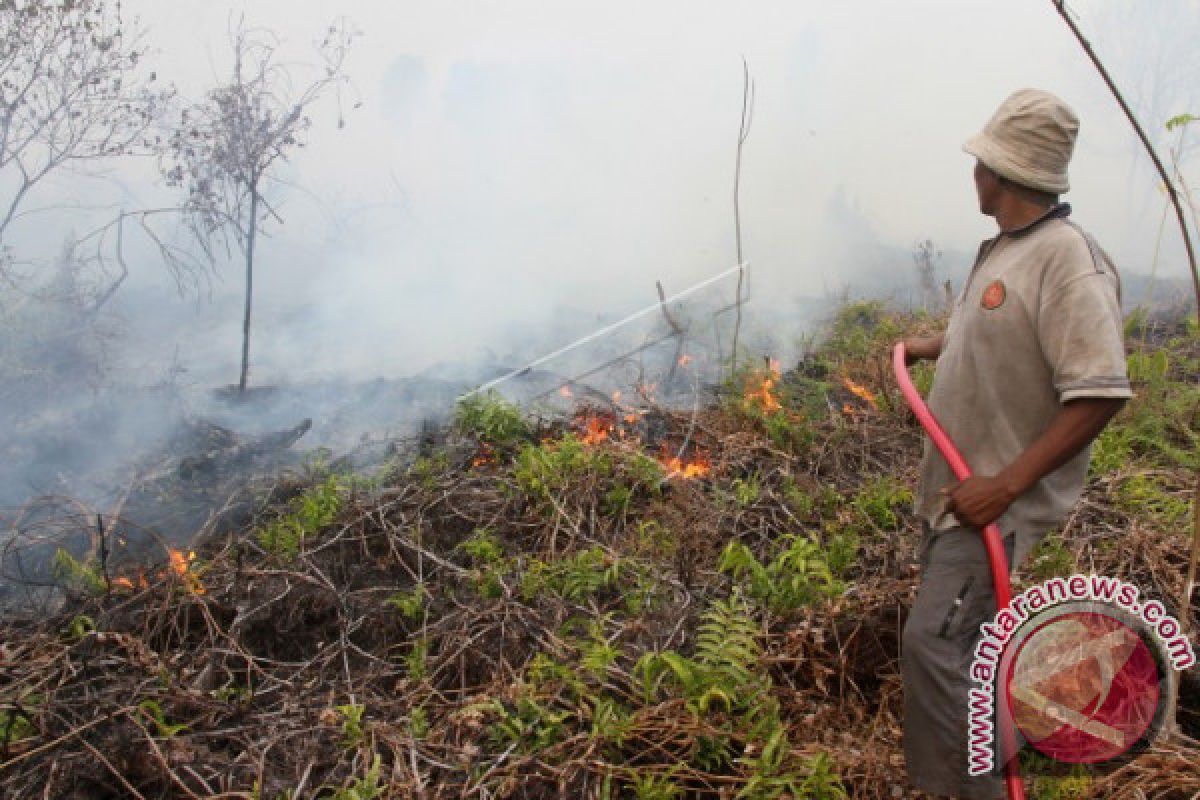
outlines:
[[[72,583],[61,613],[5,622],[0,786],[912,796],[896,657],[922,438],[886,347],[914,324],[852,307],[797,369],[750,368],[697,414],[613,398],[530,421],[476,398],[408,468],[311,481],[128,585]],[[1172,345],[1031,571],[1086,565],[1175,604],[1172,453],[1195,440],[1162,416],[1196,397],[1170,373],[1195,357]],[[1198,715],[1186,694],[1193,735]],[[1038,792],[1192,796],[1198,757],[1181,740]]]

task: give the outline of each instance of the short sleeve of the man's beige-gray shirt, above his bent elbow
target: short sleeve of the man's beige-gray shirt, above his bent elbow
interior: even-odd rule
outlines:
[[[1080,255],[1092,261],[1087,245],[1080,245]],[[1133,397],[1115,273],[1088,267],[1046,287],[1038,309],[1038,339],[1060,403]]]

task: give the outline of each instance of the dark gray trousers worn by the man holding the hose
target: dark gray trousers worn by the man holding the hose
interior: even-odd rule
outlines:
[[[1024,531],[1022,531],[1024,534]],[[1009,570],[1033,542],[1004,536]],[[930,794],[991,800],[1003,777],[967,775],[967,691],[979,625],[996,614],[983,536],[974,528],[923,531],[917,602],[900,644],[904,679],[904,754],[908,780]]]

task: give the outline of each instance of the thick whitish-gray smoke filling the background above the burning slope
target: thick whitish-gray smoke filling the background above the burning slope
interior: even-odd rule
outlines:
[[[1156,136],[1165,115],[1196,110],[1194,4],[1076,5]],[[158,49],[158,74],[191,97],[226,72],[233,16],[275,29],[295,61],[329,23],[328,6],[283,0],[124,6]],[[278,390],[244,405],[212,392],[236,377],[235,254],[199,295],[180,295],[131,234],[132,273],[106,311],[112,335],[89,356],[102,378],[55,379],[61,391],[43,392],[53,402],[40,408],[4,401],[23,441],[60,443],[26,452],[6,501],[83,493],[80,476],[132,469],[182,420],[262,433],[312,417],[306,446],[410,432],[469,386],[653,303],[656,281],[672,294],[728,269],[743,55],[755,80],[742,179],[752,347],[794,354],[846,291],[919,295],[920,241],[942,253],[940,279],[960,279],[994,230],[961,142],[1026,85],[1058,92],[1084,119],[1076,218],[1127,273],[1151,270],[1153,176],[1043,0],[338,10],[364,31],[347,65],[364,106],[343,109],[344,130],[332,102],[318,109],[306,149],[266,190],[283,224],[268,227],[258,254],[251,383]],[[67,230],[172,199],[144,162],[64,175],[41,204],[66,207],[31,218],[13,245],[53,253]],[[1174,231],[1156,269],[1183,275]],[[692,308],[697,318],[727,305],[731,287],[722,293]]]

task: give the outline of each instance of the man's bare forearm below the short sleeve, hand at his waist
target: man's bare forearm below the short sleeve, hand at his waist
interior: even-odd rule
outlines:
[[[1067,402],[1045,433],[997,475],[968,477],[942,489],[949,495],[947,510],[968,525],[982,528],[995,522],[1016,498],[1098,437],[1124,403],[1123,397],[1080,397]]]

